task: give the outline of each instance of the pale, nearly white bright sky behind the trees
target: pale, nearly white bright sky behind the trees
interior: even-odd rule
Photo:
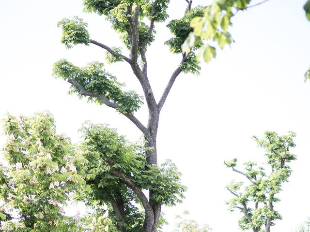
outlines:
[[[210,1],[194,0],[193,5]],[[253,4],[259,2],[253,0]],[[171,159],[183,174],[186,199],[176,207],[164,207],[171,232],[173,218],[184,210],[214,232],[239,232],[238,212],[227,210],[231,195],[225,186],[240,180],[224,160],[264,161],[264,151],[251,139],[264,131],[296,132],[297,160],[293,174],[279,194],[275,208],[283,220],[274,232],[291,232],[310,216],[310,81],[304,73],[310,65],[310,22],[302,9],[305,0],[269,0],[233,18],[235,43],[218,51],[211,63],[202,62],[201,75],[181,74],[161,112],[157,137],[159,163]],[[171,0],[171,19],[180,18],[185,0]],[[56,24],[74,15],[89,23],[91,38],[109,46],[121,46],[104,17],[82,11],[82,0],[16,0],[0,2],[0,116],[31,116],[49,110],[57,131],[73,142],[78,129],[90,120],[108,123],[129,140],[141,134],[124,116],[104,105],[89,104],[68,95],[69,84],[52,76],[53,63],[66,58],[75,65],[105,62],[105,51],[95,45],[65,49]],[[155,25],[156,41],[148,49],[148,73],[158,100],[180,56],[163,43],[171,38],[166,23]],[[127,63],[105,65],[127,89],[142,94]],[[146,122],[146,108],[136,114]],[[2,130],[2,129],[1,129]],[[5,138],[0,137],[0,146]],[[244,180],[245,182],[247,180]],[[73,210],[73,209],[71,209]],[[71,212],[72,213],[72,212]]]

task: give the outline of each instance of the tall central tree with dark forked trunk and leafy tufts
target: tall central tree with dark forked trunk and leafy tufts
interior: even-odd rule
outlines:
[[[156,100],[148,79],[146,52],[155,39],[155,23],[168,19],[169,2],[170,0],[83,1],[86,12],[104,15],[112,29],[121,34],[120,38],[129,51],[129,56],[124,55],[121,48],[109,47],[93,40],[87,31],[87,23],[78,17],[65,18],[58,23],[62,28],[62,43],[66,48],[75,44],[93,44],[103,48],[106,50],[107,62],[128,63],[144,93],[142,97],[135,91],[122,90],[124,85],[105,71],[104,64],[100,62],[77,67],[62,59],[54,64],[54,75],[71,84],[70,93],[77,93],[80,98],[88,97],[89,102],[105,104],[115,109],[134,123],[143,134],[145,142],[137,148],[104,125],[88,124],[82,130],[85,143],[80,149],[90,161],[87,166],[87,184],[92,189],[85,193],[84,200],[97,206],[108,203],[113,209],[116,225],[123,232],[140,226],[142,229],[139,230],[143,232],[155,232],[160,221],[161,206],[179,202],[185,191],[179,181],[180,174],[171,161],[157,164],[156,136],[160,112],[178,75],[181,72],[198,74],[200,71],[194,51],[203,43],[194,43],[186,54],[182,53],[181,46],[193,30],[190,21],[203,16],[205,7],[192,8],[192,0],[186,0],[184,16],[168,23],[167,27],[173,37],[165,44],[172,53],[180,54],[181,62],[171,74],[161,98]],[[134,115],[143,100],[149,112],[147,125],[143,125]],[[149,196],[143,190],[149,191]],[[141,204],[144,212],[139,212],[136,204]],[[133,215],[139,218],[138,221],[143,221],[142,225],[137,224],[137,220],[132,221]]]

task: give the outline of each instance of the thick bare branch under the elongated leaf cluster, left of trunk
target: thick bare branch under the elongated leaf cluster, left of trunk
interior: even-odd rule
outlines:
[[[107,106],[113,109],[117,109],[120,107],[117,103],[109,101],[109,99],[103,94],[94,94],[92,92],[87,91],[83,86],[81,86],[75,80],[68,78],[68,82],[74,87],[78,88],[79,93],[84,96],[99,98],[104,104],[106,104]],[[134,115],[124,114],[124,113],[121,113],[121,114],[126,116],[130,121],[132,121],[139,128],[139,130],[142,131],[143,134],[147,132],[146,127]]]

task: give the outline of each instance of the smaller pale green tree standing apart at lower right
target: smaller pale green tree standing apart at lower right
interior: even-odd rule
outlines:
[[[252,229],[253,232],[270,232],[276,219],[281,215],[274,209],[274,203],[280,201],[277,194],[282,190],[282,184],[288,182],[292,170],[288,163],[296,157],[289,151],[294,147],[294,132],[279,136],[276,132],[266,131],[264,139],[253,137],[256,143],[265,149],[267,165],[271,173],[267,173],[263,166],[256,162],[244,163],[245,171],[236,169],[237,159],[224,162],[233,172],[243,175],[249,181],[244,186],[243,182],[232,181],[227,189],[233,194],[233,198],[227,203],[231,211],[239,210],[243,217],[239,220],[242,230]]]

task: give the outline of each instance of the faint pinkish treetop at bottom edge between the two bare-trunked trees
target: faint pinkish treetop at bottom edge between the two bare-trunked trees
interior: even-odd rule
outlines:
[[[212,232],[212,229],[207,224],[199,225],[195,220],[187,219],[188,211],[183,213],[183,217],[178,215],[178,220],[173,232]]]

